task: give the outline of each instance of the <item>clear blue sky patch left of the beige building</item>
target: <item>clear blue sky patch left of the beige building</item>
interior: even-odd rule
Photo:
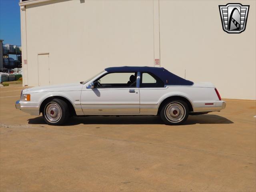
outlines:
[[[0,39],[4,44],[21,45],[19,0],[0,0]]]

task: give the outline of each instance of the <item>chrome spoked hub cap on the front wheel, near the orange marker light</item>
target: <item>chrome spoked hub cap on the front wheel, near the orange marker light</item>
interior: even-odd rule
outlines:
[[[45,109],[46,118],[51,122],[57,122],[61,117],[60,106],[56,103],[50,103]]]

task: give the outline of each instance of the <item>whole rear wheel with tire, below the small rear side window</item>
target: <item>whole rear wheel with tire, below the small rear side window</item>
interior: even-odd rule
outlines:
[[[160,116],[166,125],[179,125],[188,118],[188,105],[181,100],[167,102],[161,109]]]

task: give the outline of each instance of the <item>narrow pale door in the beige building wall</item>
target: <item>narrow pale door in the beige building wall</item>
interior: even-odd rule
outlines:
[[[38,54],[38,85],[50,84],[49,53]]]

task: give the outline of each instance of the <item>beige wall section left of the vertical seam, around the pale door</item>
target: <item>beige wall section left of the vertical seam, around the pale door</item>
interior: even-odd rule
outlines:
[[[26,5],[28,86],[49,53],[50,84],[80,82],[110,66],[154,66],[152,1],[49,1]]]

